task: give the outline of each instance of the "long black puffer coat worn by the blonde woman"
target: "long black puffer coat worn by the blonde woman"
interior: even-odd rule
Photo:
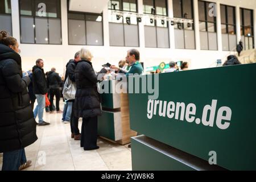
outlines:
[[[74,114],[76,117],[89,118],[101,115],[100,97],[97,90],[97,75],[92,63],[81,60],[76,65],[76,99]]]

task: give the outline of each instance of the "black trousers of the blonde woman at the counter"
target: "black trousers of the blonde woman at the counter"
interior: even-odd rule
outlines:
[[[84,150],[92,150],[97,147],[98,118],[82,118],[81,147]]]

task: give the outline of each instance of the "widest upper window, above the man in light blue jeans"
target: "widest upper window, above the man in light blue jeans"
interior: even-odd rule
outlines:
[[[62,43],[60,0],[19,0],[19,7],[21,43]],[[45,14],[42,12],[43,8],[46,8]],[[25,25],[29,23],[29,26],[23,26],[23,23]],[[31,30],[31,23],[33,30]],[[32,31],[35,33],[27,35],[27,32]]]

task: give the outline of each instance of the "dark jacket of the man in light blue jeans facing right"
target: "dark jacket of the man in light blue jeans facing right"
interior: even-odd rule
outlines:
[[[34,66],[32,69],[33,73],[33,90],[35,94],[44,95],[47,93],[47,82],[44,70],[38,66]]]

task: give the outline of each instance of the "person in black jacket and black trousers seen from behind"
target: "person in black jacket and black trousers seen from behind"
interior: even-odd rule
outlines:
[[[53,98],[56,97],[56,110],[57,113],[62,113],[60,110],[60,83],[61,77],[56,73],[56,69],[52,68],[47,76],[47,85],[49,86],[50,102],[49,106],[50,113],[53,113]]]

